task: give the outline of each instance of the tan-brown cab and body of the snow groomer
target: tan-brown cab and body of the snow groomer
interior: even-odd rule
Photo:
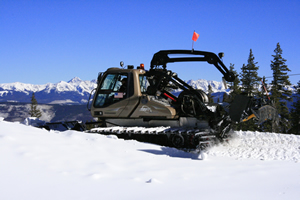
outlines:
[[[122,87],[124,79],[126,86]],[[153,119],[174,119],[176,110],[167,100],[148,95],[148,86],[144,69],[109,68],[102,75],[94,96],[93,117],[105,120],[108,126],[149,126]]]

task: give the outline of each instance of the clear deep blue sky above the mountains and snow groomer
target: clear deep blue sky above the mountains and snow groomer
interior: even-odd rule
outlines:
[[[300,74],[299,10],[299,0],[0,0],[0,83],[92,80],[120,61],[148,68],[159,50],[191,49],[194,30],[195,50],[224,52],[238,72],[252,49],[259,76],[272,76],[279,42],[290,74]],[[184,80],[222,77],[203,63],[168,67]]]

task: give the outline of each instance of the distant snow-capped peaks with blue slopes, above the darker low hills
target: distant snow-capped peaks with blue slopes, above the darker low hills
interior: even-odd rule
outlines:
[[[208,90],[211,85],[213,92],[226,92],[224,85],[217,81],[203,79],[188,80],[189,85],[196,89]],[[90,92],[97,87],[96,80],[83,81],[78,77],[68,82],[47,83],[44,85],[25,84],[20,82],[0,84],[0,102],[30,103],[32,93],[41,104],[86,104]]]

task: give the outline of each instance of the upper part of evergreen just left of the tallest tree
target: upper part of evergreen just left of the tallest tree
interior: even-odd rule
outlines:
[[[243,64],[241,68],[241,83],[242,83],[242,92],[247,96],[253,96],[258,94],[258,85],[260,82],[260,77],[258,76],[259,66],[257,62],[254,62],[254,56],[252,49],[250,49],[250,54],[248,57],[248,64]]]

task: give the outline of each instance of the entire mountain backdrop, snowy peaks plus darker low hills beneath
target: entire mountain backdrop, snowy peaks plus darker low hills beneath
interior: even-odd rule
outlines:
[[[207,81],[203,79],[185,81],[195,89],[208,91],[212,88],[214,102],[222,102],[224,93],[228,93],[222,82]],[[86,103],[90,92],[97,87],[96,80],[83,81],[78,77],[68,82],[48,83],[44,85],[25,84],[20,82],[0,84],[0,118],[6,121],[22,122],[29,117],[32,93],[38,101],[38,108],[42,112],[41,120],[46,122],[58,121],[91,121],[93,120],[87,110]],[[293,87],[290,86],[290,89]],[[295,91],[295,90],[293,90]],[[179,90],[173,92],[175,95]],[[293,92],[293,97],[296,96]],[[297,98],[294,98],[294,101]],[[292,107],[292,102],[288,102]]]

